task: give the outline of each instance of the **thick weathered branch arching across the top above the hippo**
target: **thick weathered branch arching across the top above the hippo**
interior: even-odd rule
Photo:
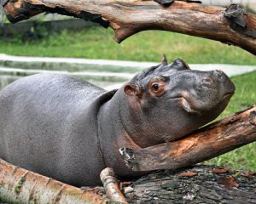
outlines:
[[[11,22],[43,12],[58,13],[111,26],[117,42],[139,31],[163,30],[233,44],[256,54],[256,15],[245,14],[237,5],[225,9],[175,1],[166,6],[153,0],[1,0],[1,3]]]

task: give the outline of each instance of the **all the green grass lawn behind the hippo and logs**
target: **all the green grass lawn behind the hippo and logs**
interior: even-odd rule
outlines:
[[[189,64],[256,65],[255,56],[240,48],[166,31],[144,31],[121,44],[113,41],[113,31],[100,27],[91,27],[79,32],[61,31],[40,41],[22,42],[20,39],[15,37],[8,42],[0,39],[0,53],[137,61],[159,61],[162,54],[166,54],[169,59],[179,57]],[[256,102],[256,71],[232,77],[232,81],[236,84],[236,94],[219,118],[241,111]],[[207,163],[255,171],[256,143],[247,144]]]

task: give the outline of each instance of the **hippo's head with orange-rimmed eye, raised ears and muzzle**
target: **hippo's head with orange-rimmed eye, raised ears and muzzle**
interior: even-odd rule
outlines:
[[[166,57],[124,86],[125,130],[141,147],[180,139],[215,119],[235,92],[223,71],[194,71]],[[126,122],[125,122],[126,121]]]

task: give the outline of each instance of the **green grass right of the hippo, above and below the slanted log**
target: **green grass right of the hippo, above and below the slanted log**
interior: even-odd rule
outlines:
[[[236,94],[230,99],[230,104],[218,119],[256,104],[256,71],[238,77],[232,77],[231,80],[236,85]],[[213,158],[207,161],[207,163],[255,171],[256,142],[247,144],[223,156]]]

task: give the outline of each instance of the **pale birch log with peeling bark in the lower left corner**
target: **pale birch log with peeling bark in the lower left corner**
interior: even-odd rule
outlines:
[[[0,159],[0,202],[8,203],[108,203],[99,190],[81,190]]]

